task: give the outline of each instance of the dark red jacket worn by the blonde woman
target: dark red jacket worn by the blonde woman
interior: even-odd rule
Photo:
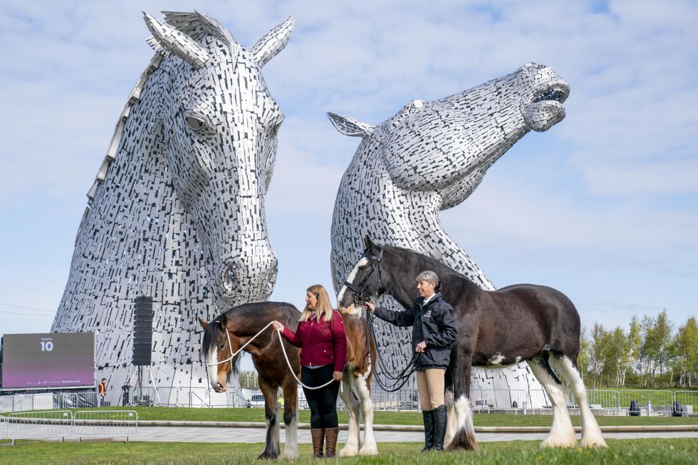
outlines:
[[[281,333],[289,343],[301,348],[301,366],[335,365],[335,371],[344,371],[347,360],[347,335],[344,320],[337,310],[332,318],[308,318],[298,323],[296,333],[286,326]]]

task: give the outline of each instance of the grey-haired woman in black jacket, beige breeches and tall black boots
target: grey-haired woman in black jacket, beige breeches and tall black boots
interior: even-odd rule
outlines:
[[[396,326],[412,326],[412,349],[417,352],[417,389],[424,417],[424,449],[422,452],[444,450],[446,435],[446,406],[444,405],[444,375],[451,358],[451,344],[458,328],[453,307],[441,298],[439,276],[434,271],[422,271],[417,276],[415,305],[404,312],[376,308],[373,302],[366,308],[378,318]]]

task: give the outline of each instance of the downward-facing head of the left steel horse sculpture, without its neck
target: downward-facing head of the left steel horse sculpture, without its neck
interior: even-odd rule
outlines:
[[[249,51],[208,16],[195,28],[176,15],[145,20],[151,45],[167,55],[156,124],[179,201],[202,234],[209,282],[229,305],[264,300],[276,281],[264,195],[283,113],[261,70],[288,42],[293,19]]]

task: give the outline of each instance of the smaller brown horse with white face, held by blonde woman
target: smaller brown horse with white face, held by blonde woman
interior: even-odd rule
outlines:
[[[298,458],[297,419],[298,382],[301,365],[298,348],[283,340],[283,347],[288,355],[283,355],[279,337],[273,328],[266,328],[271,321],[277,320],[287,328],[296,330],[300,312],[290,303],[261,302],[239,305],[219,315],[211,323],[200,320],[204,328],[202,355],[209,367],[209,382],[217,392],[224,392],[232,375],[237,374],[237,355],[232,355],[244,347],[252,356],[252,362],[258,373],[259,388],[264,394],[264,409],[267,432],[266,446],[260,459],[276,459],[279,456],[278,402],[276,392],[283,390],[283,423],[286,424],[286,444],[281,458]],[[375,455],[377,449],[373,436],[373,405],[370,400],[370,382],[373,375],[370,360],[375,360],[375,348],[366,339],[366,320],[360,315],[343,314],[347,335],[347,362],[344,369],[343,389],[340,395],[347,406],[349,419],[348,439],[340,456],[356,454]],[[370,358],[373,356],[373,359]],[[293,370],[293,372],[291,372]],[[354,396],[352,388],[358,392]],[[361,405],[359,412],[358,404]],[[364,441],[359,449],[359,417],[365,418]]]

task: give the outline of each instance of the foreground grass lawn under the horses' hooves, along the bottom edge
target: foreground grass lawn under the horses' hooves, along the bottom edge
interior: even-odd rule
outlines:
[[[353,464],[566,464],[566,465],[695,465],[694,439],[608,440],[608,449],[539,449],[538,442],[480,444],[477,452],[420,454],[422,444],[380,443],[380,455],[340,459]],[[0,464],[259,464],[262,444],[76,442],[0,446]],[[310,444],[301,444],[301,459],[289,464],[318,464]],[[323,461],[323,463],[328,463]],[[331,463],[331,462],[329,462]]]

